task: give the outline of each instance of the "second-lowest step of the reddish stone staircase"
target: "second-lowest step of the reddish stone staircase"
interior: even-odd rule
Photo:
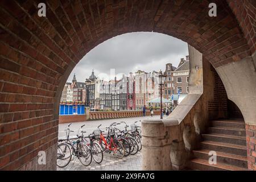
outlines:
[[[209,160],[210,150],[194,150],[193,156],[195,158]],[[247,168],[247,157],[235,154],[228,154],[216,151],[217,163],[229,164],[241,168]]]

